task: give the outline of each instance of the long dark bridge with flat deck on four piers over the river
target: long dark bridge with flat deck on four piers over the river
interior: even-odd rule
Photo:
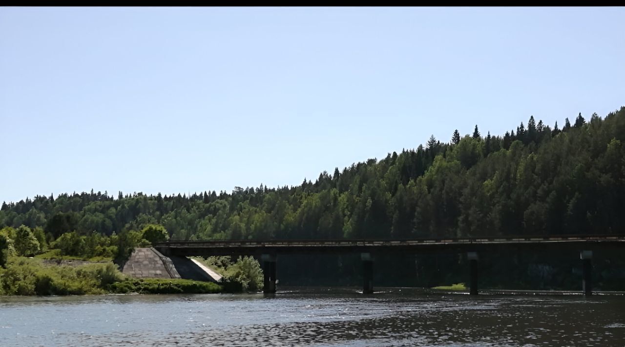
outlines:
[[[284,254],[360,253],[363,266],[363,293],[373,292],[374,255],[381,253],[436,254],[466,253],[469,260],[469,293],[477,295],[477,261],[479,253],[509,249],[576,250],[582,260],[582,290],[592,294],[592,252],[606,248],[625,248],[625,235],[551,235],[516,237],[437,238],[417,240],[212,240],[170,241],[155,243],[164,255],[219,256],[250,255],[263,265],[265,293],[276,292],[276,261]]]

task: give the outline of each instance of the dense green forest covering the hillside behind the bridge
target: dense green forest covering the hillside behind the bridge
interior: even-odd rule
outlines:
[[[51,245],[64,233],[119,237],[154,224],[173,240],[625,233],[625,107],[554,125],[529,117],[499,135],[484,135],[477,125],[472,134],[449,134],[295,187],[192,195],[92,190],[4,202],[0,228],[24,225]],[[350,259],[319,257],[314,266],[321,272],[338,265],[347,274],[357,266]],[[409,284],[415,273],[416,283],[431,285],[462,279],[464,271],[452,269],[455,256],[401,261],[408,270],[388,271],[412,278]],[[279,271],[297,273],[304,260],[290,263]],[[529,270],[519,271],[522,277]]]

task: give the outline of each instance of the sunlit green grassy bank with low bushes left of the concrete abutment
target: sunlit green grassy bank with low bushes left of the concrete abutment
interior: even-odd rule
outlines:
[[[9,257],[0,268],[0,295],[98,295],[107,293],[222,293],[231,286],[215,283],[129,278],[113,263],[82,266],[44,265],[36,258]]]

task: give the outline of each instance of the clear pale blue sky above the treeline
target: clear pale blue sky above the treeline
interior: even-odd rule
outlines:
[[[625,9],[0,8],[0,200],[314,180],[625,105]]]

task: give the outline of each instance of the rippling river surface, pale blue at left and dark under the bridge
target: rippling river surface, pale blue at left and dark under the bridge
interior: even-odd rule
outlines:
[[[412,288],[0,298],[0,346],[625,346],[625,296]]]

